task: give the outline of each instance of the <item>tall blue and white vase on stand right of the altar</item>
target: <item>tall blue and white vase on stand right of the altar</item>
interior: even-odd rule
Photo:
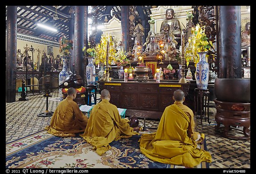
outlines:
[[[209,64],[205,61],[207,51],[198,52],[199,62],[196,64],[196,85],[198,89],[207,89],[209,81]]]

